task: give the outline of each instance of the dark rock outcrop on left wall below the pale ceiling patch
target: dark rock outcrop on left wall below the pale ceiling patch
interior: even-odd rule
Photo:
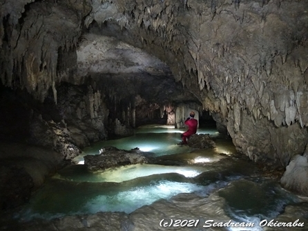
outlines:
[[[55,107],[73,133],[73,143],[84,148],[89,143],[108,137],[109,110],[104,102],[102,90],[95,81],[91,85],[74,86],[63,84],[59,87],[59,102]],[[80,131],[80,132],[79,132]]]

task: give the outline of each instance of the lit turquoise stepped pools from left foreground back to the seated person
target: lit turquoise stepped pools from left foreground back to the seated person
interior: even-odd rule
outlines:
[[[138,147],[140,150],[151,152],[153,157],[168,155],[169,159],[184,159],[187,163],[203,163],[204,160],[211,162],[222,158],[218,156],[216,149],[195,150],[186,145],[177,145],[180,132],[183,131],[169,126],[144,126],[138,128],[131,137],[102,141],[85,148],[84,153],[75,161],[83,161],[85,154],[98,154],[99,150],[106,146],[123,150]],[[217,135],[215,130],[202,132]],[[222,145],[230,153],[235,152],[230,141],[222,141]],[[64,214],[94,212],[132,212],[157,199],[169,199],[176,194],[187,192],[206,193],[215,187],[222,187],[219,183],[202,185],[189,180],[206,170],[207,167],[193,165],[138,164],[112,168],[104,172],[89,172],[84,165],[69,166],[59,170],[31,199],[30,204],[23,210],[27,211],[24,213],[24,219],[50,219]]]

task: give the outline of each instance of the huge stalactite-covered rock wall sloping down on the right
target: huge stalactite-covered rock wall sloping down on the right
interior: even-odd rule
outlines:
[[[96,3],[104,10],[93,10],[86,22],[112,19],[122,30],[110,33],[129,35],[126,41],[133,38],[166,61],[204,110],[228,120],[238,151],[281,165],[302,154],[308,141],[307,1]]]

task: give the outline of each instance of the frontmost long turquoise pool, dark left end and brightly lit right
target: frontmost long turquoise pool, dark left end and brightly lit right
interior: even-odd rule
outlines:
[[[195,183],[162,179],[124,185],[50,181],[24,208],[21,219],[52,219],[96,212],[130,213],[158,199],[170,199],[183,192],[201,192],[202,188]]]

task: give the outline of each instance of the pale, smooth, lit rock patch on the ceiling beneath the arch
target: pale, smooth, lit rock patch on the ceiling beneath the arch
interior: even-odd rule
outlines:
[[[114,37],[88,33],[77,49],[77,77],[88,74],[151,74],[171,77],[166,63]]]

